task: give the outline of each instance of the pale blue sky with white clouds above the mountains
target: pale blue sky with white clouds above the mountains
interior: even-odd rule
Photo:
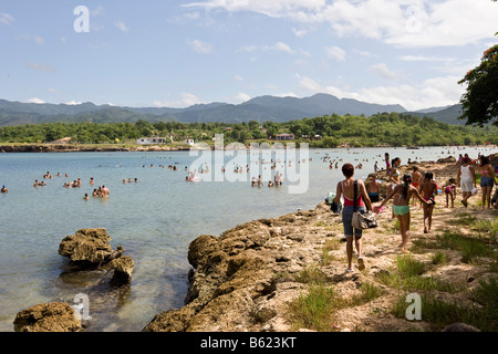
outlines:
[[[0,98],[442,107],[497,31],[491,0],[0,0]]]

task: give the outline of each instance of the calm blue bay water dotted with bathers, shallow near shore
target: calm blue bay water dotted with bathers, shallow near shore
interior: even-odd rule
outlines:
[[[198,183],[185,180],[185,167],[204,168],[200,156],[215,162],[210,152],[0,154],[0,185],[9,188],[0,195],[0,331],[13,331],[15,314],[23,309],[51,301],[72,303],[77,293],[89,294],[92,319],[87,331],[141,331],[155,314],[183,305],[190,269],[188,244],[196,237],[218,236],[246,221],[313,208],[335,190],[342,174],[322,160],[325,154],[340,160],[339,166],[362,163],[363,169],[355,176],[365,178],[375,160],[381,168],[385,166],[385,152],[405,164],[407,158],[447,157],[448,150],[453,156],[468,153],[470,157],[477,157],[477,152],[497,153],[468,147],[312,149],[302,155],[304,160],[289,154],[278,156],[281,160],[274,170],[270,164],[261,164],[258,152],[225,153],[221,165],[226,174],[219,173],[219,164],[210,165],[210,173],[199,175]],[[266,162],[269,156],[263,157]],[[201,165],[193,165],[199,160]],[[289,185],[298,181],[284,181],[280,188],[251,187],[247,173],[227,173],[234,163],[248,164],[251,173],[263,176],[276,170],[289,178],[301,174],[301,183],[305,175],[308,188],[303,194],[290,192]],[[169,169],[169,165],[178,169]],[[44,179],[46,171],[53,178]],[[230,181],[230,176],[242,180]],[[81,188],[63,187],[79,177]],[[123,178],[138,181],[123,184]],[[35,179],[45,180],[46,186],[34,188]],[[91,195],[100,185],[110,188],[108,198],[83,200],[85,192]],[[96,227],[105,228],[113,249],[123,246],[135,262],[126,290],[110,291],[102,272],[71,275],[68,260],[58,253],[66,235]]]

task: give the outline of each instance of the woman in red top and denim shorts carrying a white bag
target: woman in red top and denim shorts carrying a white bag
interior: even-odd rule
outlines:
[[[341,200],[341,195],[344,197],[344,205],[342,209],[342,223],[344,226],[344,236],[346,238],[346,253],[347,253],[347,269],[346,272],[352,272],[352,259],[353,259],[353,237],[357,251],[357,268],[360,270],[365,269],[363,261],[363,244],[362,244],[362,229],[354,229],[351,225],[354,211],[354,166],[351,164],[344,164],[342,166],[342,174],[345,179],[338,184],[338,189],[335,194],[334,201],[336,204]],[[356,211],[365,212],[364,205],[372,210],[372,204],[370,202],[369,195],[366,192],[365,185],[363,180],[357,179],[357,190],[356,190]]]

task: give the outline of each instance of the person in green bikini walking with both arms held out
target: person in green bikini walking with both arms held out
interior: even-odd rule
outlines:
[[[376,207],[374,210],[378,212],[391,198],[393,199],[393,211],[400,221],[400,232],[402,237],[402,243],[400,244],[401,251],[407,253],[406,244],[409,238],[409,198],[412,196],[417,197],[423,205],[429,205],[427,200],[422,198],[418,190],[412,186],[412,176],[406,174],[403,176],[403,184],[397,185],[391,192],[385,197],[385,199]]]

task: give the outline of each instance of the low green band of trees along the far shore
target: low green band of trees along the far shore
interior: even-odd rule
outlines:
[[[437,122],[402,113],[364,115],[324,115],[284,123],[249,121],[248,123],[43,123],[0,127],[0,143],[52,143],[71,137],[80,144],[135,144],[137,138],[160,136],[183,143],[212,142],[224,134],[226,143],[271,140],[278,134],[294,135],[293,142],[307,142],[311,147],[349,146],[445,146],[498,145],[498,127],[464,126]]]

